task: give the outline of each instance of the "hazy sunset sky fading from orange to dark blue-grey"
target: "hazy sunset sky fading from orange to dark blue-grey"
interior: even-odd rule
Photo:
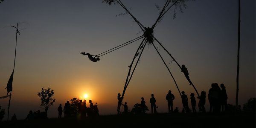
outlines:
[[[151,27],[165,0],[122,0],[144,26]],[[186,3],[183,13],[173,9],[166,13],[154,29],[154,36],[185,64],[189,76],[200,93],[211,83],[226,86],[227,102],[235,105],[237,68],[238,0],[195,0]],[[241,47],[239,105],[256,97],[256,10],[255,0],[241,0]],[[44,111],[37,93],[42,87],[54,90],[56,102],[49,117],[58,116],[58,105],[77,97],[98,103],[100,114],[116,114],[117,93],[122,93],[128,66],[140,44],[134,42],[90,61],[80,52],[99,54],[137,38],[143,33],[130,15],[118,4],[109,6],[102,0],[5,0],[0,3],[0,96],[12,73],[15,55],[15,29],[19,26],[17,56],[13,79],[10,117],[16,113],[25,119],[29,110]],[[140,32],[140,33],[138,33]],[[155,42],[155,45],[160,45]],[[160,48],[180,91],[195,93],[180,68]],[[146,46],[129,84],[124,102],[131,110],[144,97],[154,93],[157,111],[168,112],[165,99],[168,90],[175,95],[174,107],[182,108],[181,98],[172,77],[153,46]],[[7,119],[9,98],[0,99]],[[197,99],[198,104],[198,99]],[[207,100],[206,108],[209,110]],[[189,107],[191,103],[189,99]],[[123,110],[123,109],[122,109]],[[197,108],[198,110],[198,108]]]

